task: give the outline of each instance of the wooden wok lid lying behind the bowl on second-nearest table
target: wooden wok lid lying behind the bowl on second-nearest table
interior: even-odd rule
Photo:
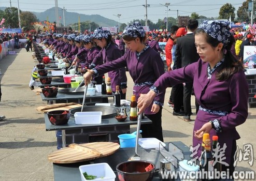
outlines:
[[[75,102],[69,102],[69,103],[55,103],[55,104],[46,104],[41,105],[36,108],[39,112],[48,112],[48,111],[56,111],[56,110],[69,110],[73,108],[81,107],[81,104],[75,103]]]

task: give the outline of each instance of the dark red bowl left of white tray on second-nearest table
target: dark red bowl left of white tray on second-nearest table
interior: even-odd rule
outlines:
[[[47,115],[52,125],[65,125],[70,117],[70,111],[49,111],[47,112]]]

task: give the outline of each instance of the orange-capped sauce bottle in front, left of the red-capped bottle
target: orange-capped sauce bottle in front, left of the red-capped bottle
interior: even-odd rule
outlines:
[[[204,152],[201,156],[201,169],[200,170],[203,173],[207,172],[207,178],[204,178],[202,180],[214,179],[214,158],[212,157],[211,143],[210,143],[209,139],[205,140],[205,148],[204,148]]]

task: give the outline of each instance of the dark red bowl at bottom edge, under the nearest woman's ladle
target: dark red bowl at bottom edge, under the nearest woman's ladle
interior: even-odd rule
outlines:
[[[119,180],[150,181],[153,179],[155,165],[148,161],[125,161],[117,165]]]

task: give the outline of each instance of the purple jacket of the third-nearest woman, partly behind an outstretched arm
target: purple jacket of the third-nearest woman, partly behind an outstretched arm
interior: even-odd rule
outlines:
[[[121,50],[118,49],[116,44],[110,44],[107,50],[103,48],[97,56],[93,59],[92,64],[94,65],[101,65],[102,59],[104,63],[112,62],[115,59],[118,59],[121,57]],[[111,79],[111,88],[113,92],[116,92],[116,86],[119,85],[122,87],[122,85],[127,83],[127,77],[125,73],[125,67],[119,67],[118,69],[114,68],[112,70],[107,71],[108,77]],[[106,72],[104,72],[106,73]],[[99,73],[99,74],[104,74]]]

